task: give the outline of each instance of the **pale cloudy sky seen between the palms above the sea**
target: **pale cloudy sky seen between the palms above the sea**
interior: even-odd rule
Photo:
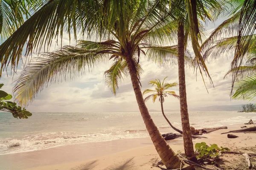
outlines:
[[[206,27],[207,35],[221,23],[221,21],[209,24]],[[63,45],[75,45],[75,41],[69,42],[68,35],[63,37]],[[58,49],[58,45],[52,45],[50,51]],[[192,51],[192,47],[188,48]],[[33,54],[33,57],[36,57]],[[205,78],[206,86],[201,75],[197,76],[193,68],[186,67],[186,92],[188,108],[206,107],[211,105],[240,105],[248,103],[243,100],[230,100],[229,91],[231,78],[224,79],[224,75],[230,69],[232,54],[220,56],[216,60],[209,59],[207,68],[212,78],[213,85]],[[157,65],[140,59],[143,68],[141,76],[142,91],[151,88],[148,85],[150,80],[166,79],[167,82],[178,83],[178,68],[175,65]],[[130,79],[124,79],[119,84],[119,90],[114,96],[111,90],[105,85],[104,72],[110,68],[111,62],[102,63],[95,67],[90,73],[87,72],[73,81],[52,84],[39,93],[34,102],[27,107],[31,112],[132,112],[139,111]],[[8,76],[3,73],[0,83],[4,83],[2,90],[11,93],[14,81],[20,75],[23,66],[19,66],[17,74]],[[178,94],[178,87],[172,88]],[[160,110],[160,102],[146,102],[148,109]],[[168,97],[164,102],[164,109],[177,110],[180,108],[179,100]]]

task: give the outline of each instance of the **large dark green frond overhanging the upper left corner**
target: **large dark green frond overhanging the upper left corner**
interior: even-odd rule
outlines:
[[[0,71],[9,63],[13,70],[17,67],[26,43],[25,56],[32,51],[40,52],[42,47],[47,51],[52,40],[58,40],[58,35],[62,42],[64,31],[70,39],[71,34],[76,39],[78,32],[84,34],[87,31],[88,36],[95,32],[105,34],[105,31],[99,30],[100,11],[102,8],[99,4],[90,0],[49,0],[0,45]]]

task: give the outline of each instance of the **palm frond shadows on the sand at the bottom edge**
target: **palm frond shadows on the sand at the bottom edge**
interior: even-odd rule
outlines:
[[[135,170],[134,169],[134,158],[128,159],[119,164],[113,164],[103,170]],[[91,161],[87,164],[80,165],[78,167],[74,167],[71,170],[93,170],[98,165],[98,160]]]

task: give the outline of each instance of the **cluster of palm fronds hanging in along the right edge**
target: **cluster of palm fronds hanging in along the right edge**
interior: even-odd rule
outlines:
[[[256,96],[256,1],[233,1],[227,6],[231,8],[222,16],[228,19],[212,31],[202,45],[204,58],[216,59],[221,54],[233,54],[230,71],[225,76],[232,77],[230,96],[251,100]],[[245,65],[244,59],[247,59]]]

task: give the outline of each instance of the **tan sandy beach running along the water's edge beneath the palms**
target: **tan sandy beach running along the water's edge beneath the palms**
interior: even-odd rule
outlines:
[[[222,132],[239,129],[242,125],[230,125],[228,129],[216,130],[212,133],[204,134],[203,136],[208,137],[207,139],[193,139],[193,143],[195,145],[195,143],[204,141],[207,144],[216,143],[219,147],[230,147],[232,145],[230,149],[238,148],[241,144],[244,146],[255,146],[255,134],[241,133],[239,134],[241,138],[236,139],[228,139],[225,134],[220,135]],[[235,143],[232,144],[230,142]],[[248,144],[248,142],[250,143]],[[178,150],[183,152],[182,138],[168,141],[168,143],[175,152]],[[140,160],[136,164],[145,161],[143,164],[147,168],[151,168],[149,161],[153,157],[157,158],[158,155],[149,137],[70,144],[44,150],[0,155],[0,164],[4,170],[70,170],[81,164],[98,160],[97,164],[100,166],[97,165],[95,167],[97,169],[106,168],[132,157],[136,158],[133,161]],[[24,160],[24,158],[26,159]]]

